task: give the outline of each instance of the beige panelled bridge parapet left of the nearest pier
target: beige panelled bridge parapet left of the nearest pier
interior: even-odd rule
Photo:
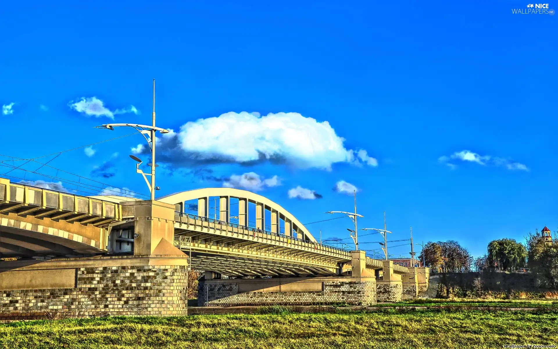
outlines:
[[[64,219],[65,222],[106,227],[122,220],[121,205],[81,195],[57,192],[0,178],[0,214]]]

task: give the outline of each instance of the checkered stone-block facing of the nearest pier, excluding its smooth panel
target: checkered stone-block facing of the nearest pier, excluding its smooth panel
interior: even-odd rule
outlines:
[[[187,313],[187,267],[179,258],[97,259],[104,266],[75,268],[65,261],[57,267],[73,271],[73,287],[1,290],[0,319]]]

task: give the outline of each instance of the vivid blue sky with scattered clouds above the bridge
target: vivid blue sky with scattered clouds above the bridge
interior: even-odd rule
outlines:
[[[174,160],[161,162],[161,195],[242,184],[232,175],[277,176],[257,183],[258,193],[309,223],[332,218],[325,211],[352,209],[352,196],[333,190],[343,180],[359,189],[359,227],[381,227],[386,211],[393,240],[407,238],[412,226],[416,242],[453,239],[481,255],[495,238],[523,241],[535,228],[558,227],[558,16],[512,14],[525,6],[4,2],[0,154],[28,159],[126,135],[130,130],[93,127],[150,123],[155,78],[157,125],[172,128],[170,141],[179,145],[168,145],[166,159]],[[254,146],[227,147],[238,130],[215,136],[228,130],[220,116],[231,112],[233,121],[259,113],[244,115],[252,127],[244,139]],[[270,126],[277,123],[284,134]],[[181,146],[187,141],[193,144]],[[140,135],[123,137],[94,145],[91,156],[62,153],[49,165],[146,194],[127,156],[141,143]],[[359,150],[377,166],[368,157],[354,164]],[[282,161],[248,166],[254,151]],[[204,161],[186,161],[192,154]],[[8,175],[53,181],[19,170]],[[289,198],[299,186],[323,198]],[[341,218],[308,228],[345,238],[350,224]],[[360,240],[372,241],[377,235]]]

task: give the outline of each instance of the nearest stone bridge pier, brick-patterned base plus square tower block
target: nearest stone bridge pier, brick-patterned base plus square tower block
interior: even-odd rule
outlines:
[[[186,314],[188,260],[173,245],[174,205],[145,200],[121,207],[122,221],[98,228],[104,238],[97,255],[0,261],[0,319]],[[31,236],[27,241],[44,234],[22,231],[31,218],[10,213],[6,219],[20,227],[10,233]]]

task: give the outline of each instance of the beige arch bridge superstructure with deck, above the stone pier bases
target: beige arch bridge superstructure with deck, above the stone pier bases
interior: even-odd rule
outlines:
[[[188,190],[151,202],[0,178],[0,257],[152,255],[172,248],[191,256],[193,269],[239,277],[350,275],[353,261],[350,251],[316,241],[281,205],[246,190]],[[383,267],[369,257],[363,264]],[[408,269],[393,265],[393,271]]]

